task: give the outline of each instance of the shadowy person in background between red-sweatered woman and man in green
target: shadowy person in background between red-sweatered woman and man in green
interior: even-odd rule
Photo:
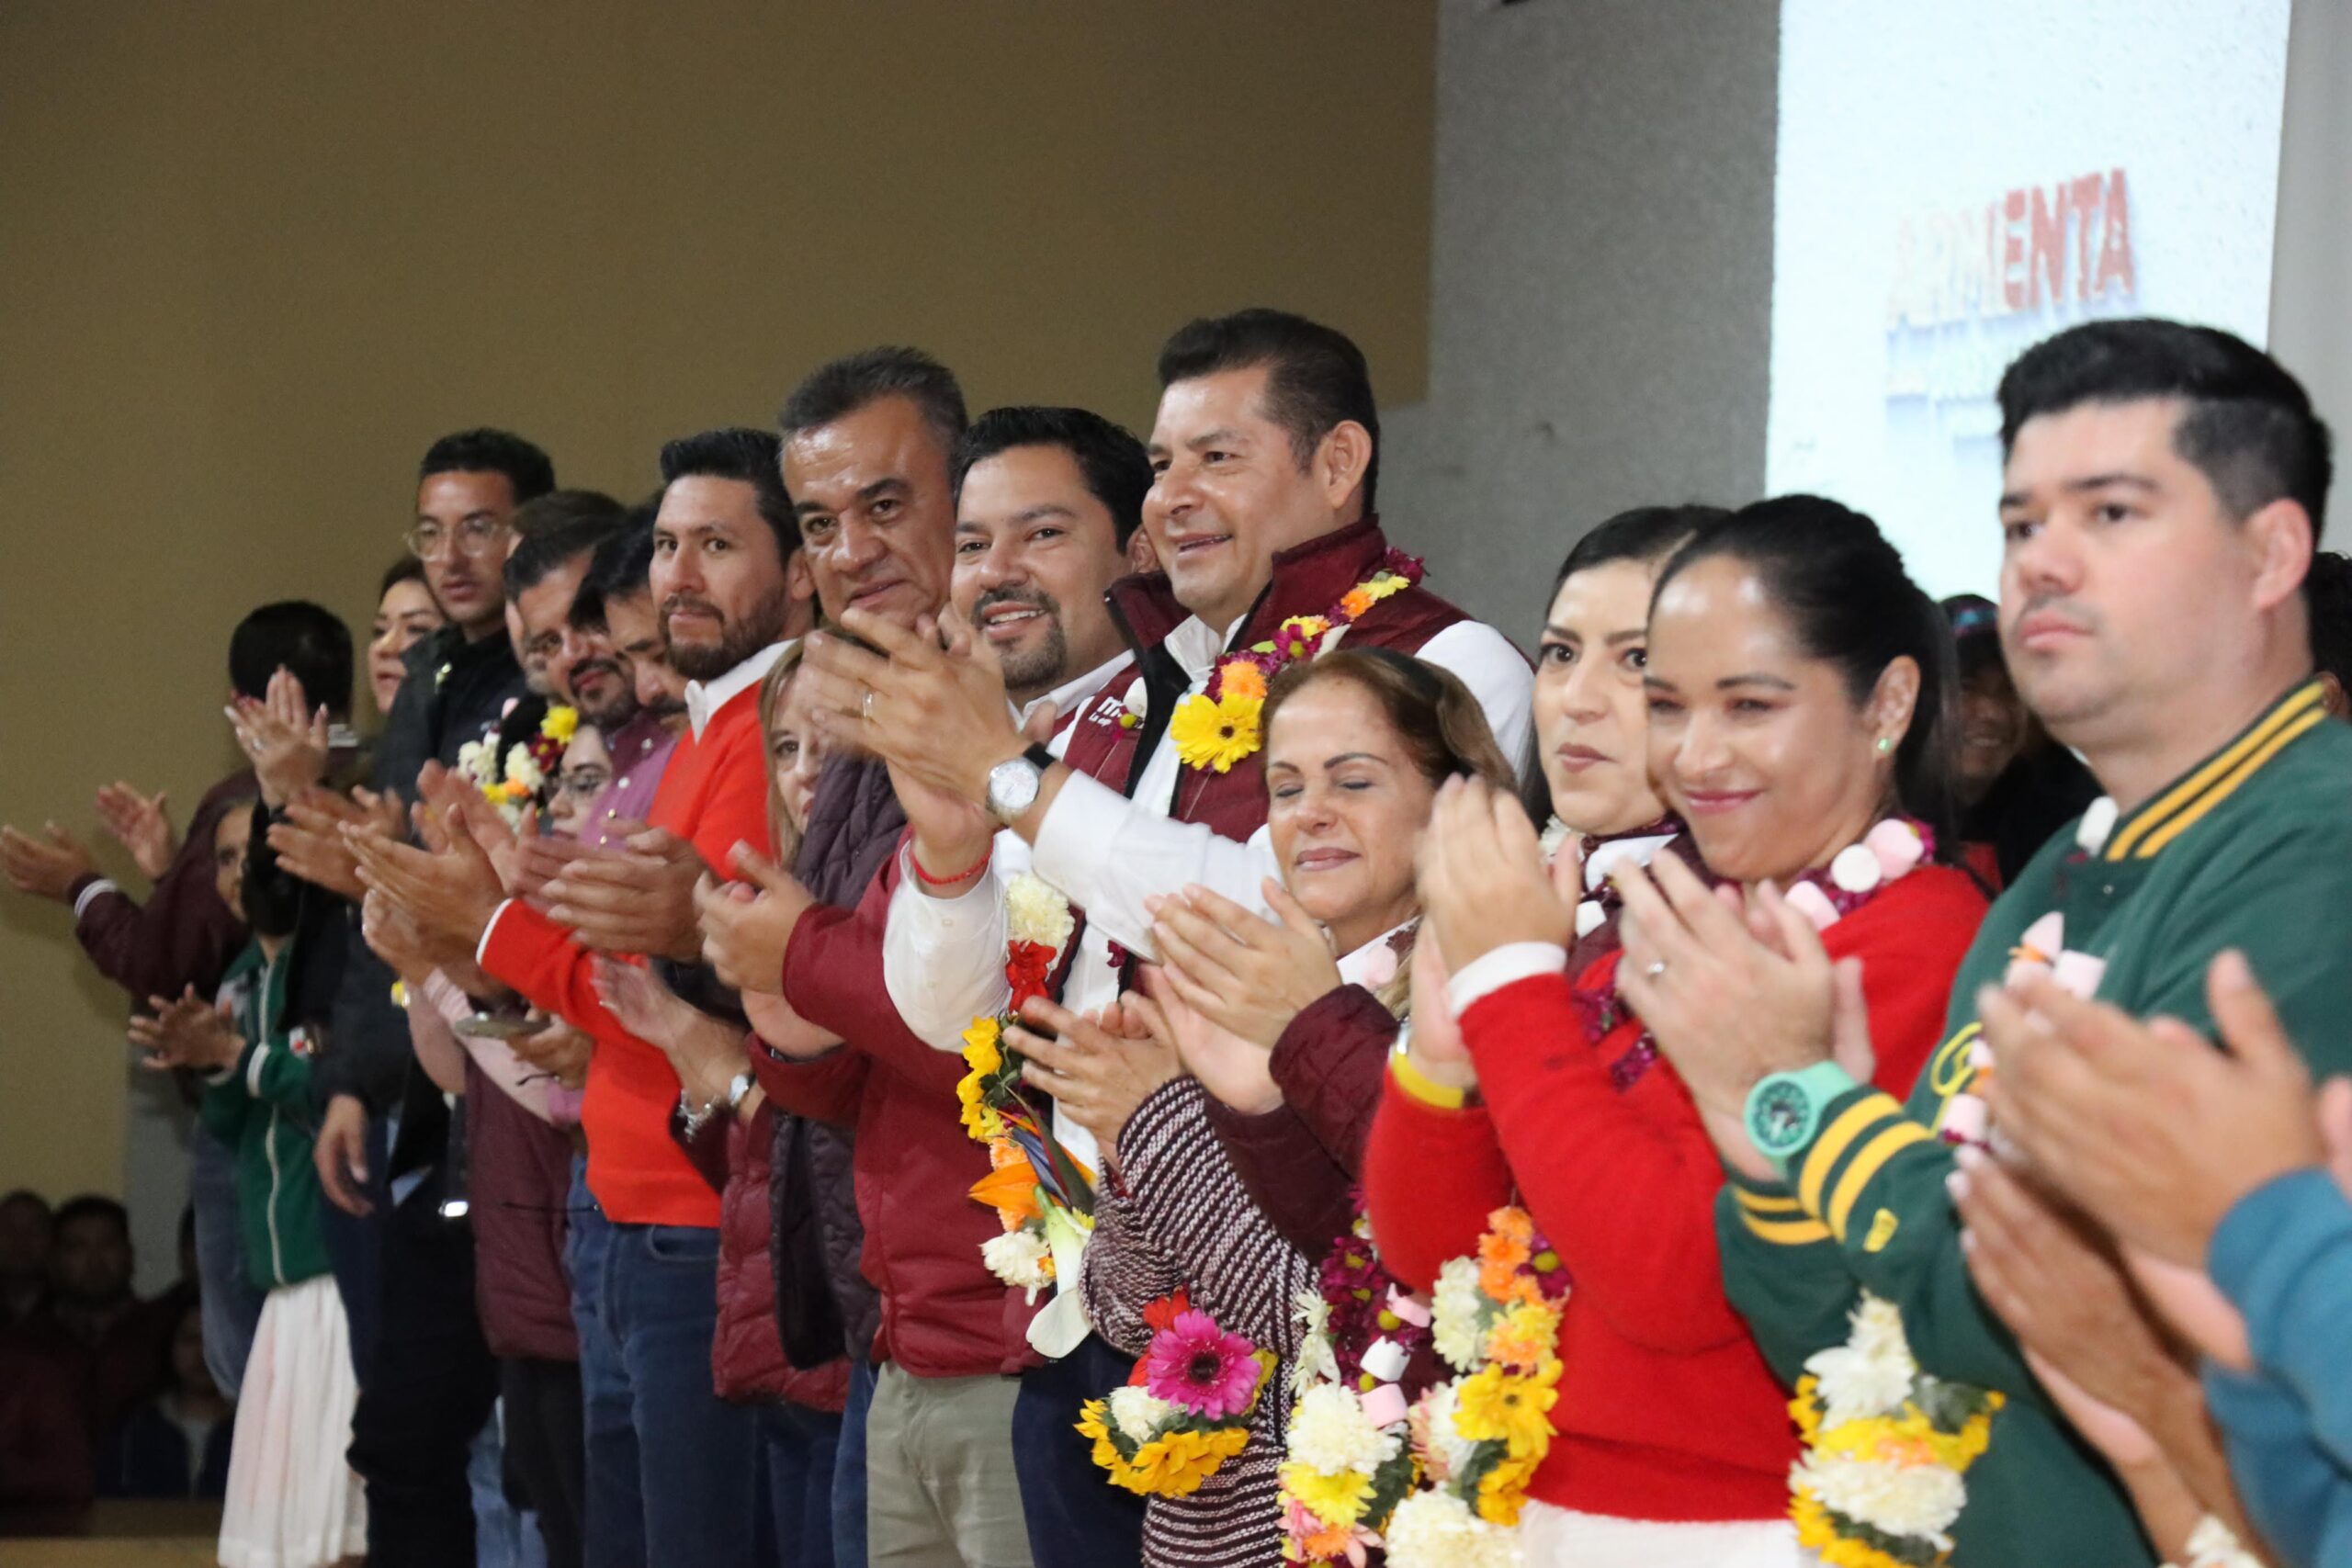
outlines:
[[[2098,780],[2051,741],[2002,658],[2002,607],[1973,592],[1943,602],[1959,646],[1959,842],[1994,891],[2051,835],[2098,799]]]

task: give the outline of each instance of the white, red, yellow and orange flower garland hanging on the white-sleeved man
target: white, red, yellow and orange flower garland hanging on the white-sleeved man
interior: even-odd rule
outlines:
[[[1004,1030],[1021,1020],[1021,1004],[1042,997],[1054,964],[1077,931],[1070,900],[1030,872],[1004,886],[1002,1013],[974,1018],[964,1030],[964,1077],[955,1086],[964,1135],[988,1147],[988,1175],[971,1199],[997,1211],[1004,1234],[981,1244],[988,1272],[1030,1300],[1077,1262],[1094,1229],[1094,1173],[1054,1138],[1021,1091],[1023,1056],[1004,1046]]]

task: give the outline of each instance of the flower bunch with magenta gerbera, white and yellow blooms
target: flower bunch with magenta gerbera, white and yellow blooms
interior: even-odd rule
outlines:
[[[1143,1309],[1152,1342],[1127,1387],[1080,1406],[1077,1432],[1110,1483],[1141,1497],[1188,1497],[1249,1446],[1249,1413],[1275,1354],[1197,1312],[1183,1291]]]

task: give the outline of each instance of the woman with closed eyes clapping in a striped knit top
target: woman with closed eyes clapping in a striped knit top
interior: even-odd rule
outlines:
[[[1341,649],[1282,670],[1261,717],[1265,823],[1282,867],[1265,893],[1282,917],[1284,959],[1315,973],[1301,983],[1308,997],[1355,992],[1378,1009],[1385,1027],[1376,1048],[1385,1048],[1397,1030],[1390,1009],[1409,1004],[1402,954],[1418,922],[1414,851],[1430,802],[1449,778],[1508,790],[1510,764],[1461,679],[1388,649]],[[1272,926],[1225,907],[1237,924]],[[1155,940],[1164,936],[1176,936],[1174,926],[1155,931]],[[1258,1091],[1270,1086],[1265,1048],[1195,1011],[1216,1009],[1216,980],[1202,985],[1216,971],[1214,952],[1228,947],[1181,936],[1164,943],[1169,973],[1183,978],[1157,985],[1157,1001],[1124,997],[1122,1018],[1108,1025],[1047,1006],[1061,1039],[1018,1027],[1004,1034],[1030,1058],[1030,1081],[1103,1152],[1082,1276],[1096,1331],[1141,1354],[1152,1340],[1148,1307],[1185,1291],[1225,1333],[1282,1359],[1251,1406],[1247,1448],[1197,1490],[1150,1497],[1148,1563],[1282,1559],[1275,1469],[1301,1338],[1291,1309],[1312,1279],[1312,1258],[1251,1201],[1209,1126],[1209,1086],[1244,1100],[1251,1074]]]

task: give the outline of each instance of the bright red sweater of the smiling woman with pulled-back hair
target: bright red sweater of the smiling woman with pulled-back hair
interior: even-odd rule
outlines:
[[[1832,957],[1863,959],[1879,1086],[1919,1077],[1983,912],[1969,877],[1922,867],[1823,933]],[[1616,959],[1576,990],[1604,997]],[[1724,1298],[1722,1161],[1665,1058],[1625,1088],[1611,1079],[1642,1025],[1588,1044],[1569,997],[1566,976],[1534,976],[1463,1013],[1482,1105],[1437,1110],[1388,1084],[1364,1157],[1381,1255],[1428,1291],[1517,1197],[1573,1281],[1555,1439],[1529,1493],[1616,1519],[1778,1519],[1797,1436]]]

